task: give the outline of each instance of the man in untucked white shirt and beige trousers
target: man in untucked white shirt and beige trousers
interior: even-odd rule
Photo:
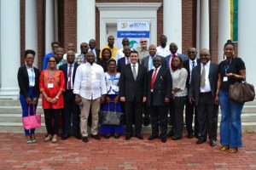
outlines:
[[[73,94],[76,94],[75,101],[82,102],[80,115],[80,130],[83,142],[88,142],[87,121],[91,108],[91,137],[101,139],[97,134],[98,112],[100,105],[104,100],[104,94],[107,94],[104,71],[101,65],[95,63],[95,54],[88,52],[86,54],[86,63],[79,65],[74,86]]]

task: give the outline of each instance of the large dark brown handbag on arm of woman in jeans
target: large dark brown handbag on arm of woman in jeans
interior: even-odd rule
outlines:
[[[229,88],[229,98],[239,103],[253,101],[255,98],[253,84],[247,82],[231,84]]]

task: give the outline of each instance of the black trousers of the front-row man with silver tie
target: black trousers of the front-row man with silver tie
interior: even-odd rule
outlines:
[[[125,101],[125,133],[132,135],[132,120],[135,120],[135,134],[140,135],[143,122],[143,102],[136,99]]]

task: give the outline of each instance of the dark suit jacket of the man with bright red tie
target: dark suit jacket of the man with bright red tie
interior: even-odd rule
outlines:
[[[172,76],[169,69],[160,67],[154,80],[153,93],[151,93],[151,80],[154,69],[147,73],[147,104],[166,105],[165,98],[170,99],[172,94]],[[153,98],[153,99],[152,99]]]

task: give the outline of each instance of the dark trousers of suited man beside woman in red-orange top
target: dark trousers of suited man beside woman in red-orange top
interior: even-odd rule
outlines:
[[[66,90],[64,93],[64,135],[69,135],[71,128],[71,120],[73,124],[73,134],[79,135],[79,105],[76,105],[74,102],[75,94],[73,90]]]

